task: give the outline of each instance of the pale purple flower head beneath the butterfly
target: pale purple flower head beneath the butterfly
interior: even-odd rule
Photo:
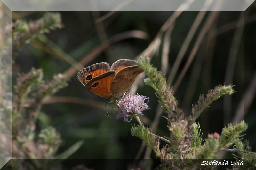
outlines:
[[[147,103],[144,103],[146,96],[140,96],[138,93],[131,95],[126,94],[124,97],[117,101],[116,119],[124,117],[124,121],[129,121],[129,117],[132,115],[142,114],[142,111],[148,108]]]

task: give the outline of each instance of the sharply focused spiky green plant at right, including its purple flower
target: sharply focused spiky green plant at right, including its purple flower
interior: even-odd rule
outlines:
[[[134,108],[141,108],[142,110],[148,108],[148,106],[145,107],[144,105],[146,103],[143,104],[144,100],[148,99],[146,96],[143,97],[143,102],[135,100],[138,95],[127,96],[119,100],[117,102],[118,111],[116,117],[124,117],[125,121],[129,117],[135,117],[138,120],[139,125],[132,126],[132,135],[140,137],[155,152],[156,157],[160,158],[162,164],[158,166],[158,169],[209,169],[211,165],[201,165],[200,162],[202,163],[205,159],[216,158],[219,156],[220,150],[224,150],[224,147],[231,145],[234,148],[239,148],[236,151],[231,149],[232,152],[243,152],[240,158],[249,158],[247,160],[250,162],[249,165],[251,167],[255,166],[256,160],[253,159],[256,156],[255,153],[250,152],[248,149],[245,151],[245,145],[247,146],[248,144],[241,143],[243,139],[242,132],[248,127],[244,121],[233,125],[229,124],[223,128],[221,134],[208,134],[208,138],[204,139],[204,143],[202,142],[200,124],[195,123],[196,118],[213,101],[225,94],[233,94],[233,85],[218,85],[213,90],[209,90],[206,97],[200,95],[197,104],[192,106],[192,115],[186,117],[185,113],[177,107],[178,102],[174,97],[172,87],[167,85],[162,73],[150,65],[149,57],[141,57],[138,65],[145,71],[148,77],[144,80],[145,84],[151,86],[156,91],[155,94],[158,97],[158,101],[167,114],[165,118],[168,121],[167,128],[170,135],[165,138],[159,137],[140,122],[137,115],[142,114],[141,110],[137,109],[137,111],[134,111],[136,110]],[[168,143],[163,148],[159,148],[160,139]],[[238,157],[236,156],[236,158]],[[240,166],[242,167],[242,165]]]

